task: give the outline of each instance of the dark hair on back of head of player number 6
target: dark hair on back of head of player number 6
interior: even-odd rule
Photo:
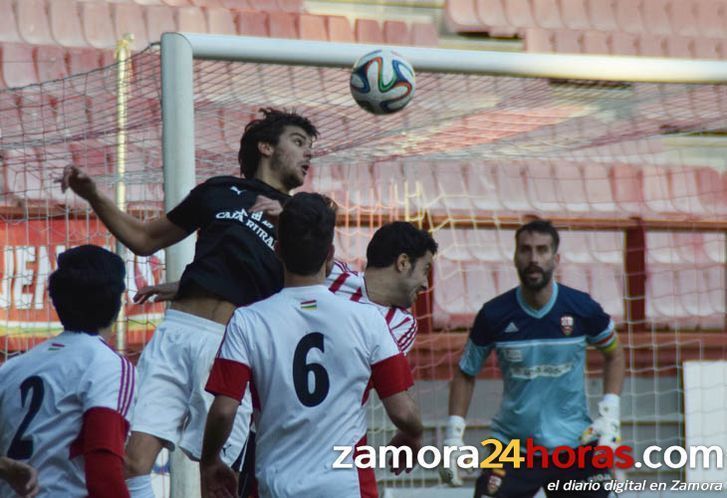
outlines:
[[[283,206],[278,220],[278,245],[285,268],[296,275],[314,275],[333,244],[336,205],[320,194],[300,192]]]

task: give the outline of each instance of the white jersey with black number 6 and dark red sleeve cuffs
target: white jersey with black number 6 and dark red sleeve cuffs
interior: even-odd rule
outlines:
[[[374,307],[316,285],[285,288],[238,308],[208,389],[226,394],[225,384],[240,379],[244,388],[246,376],[260,409],[255,463],[261,496],[377,496],[373,470],[332,468],[340,454],[334,446],[366,444],[369,389],[388,397],[413,382]]]

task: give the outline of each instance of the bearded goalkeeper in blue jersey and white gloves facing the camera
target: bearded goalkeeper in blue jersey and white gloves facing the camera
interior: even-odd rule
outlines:
[[[531,438],[533,444],[548,450],[581,444],[617,445],[619,393],[625,374],[623,350],[613,321],[601,306],[588,294],[553,279],[560,260],[558,244],[558,232],[549,221],[532,221],[515,233],[514,262],[520,286],[485,303],[477,314],[450,386],[445,446],[463,445],[475,376],[493,350],[504,382],[502,405],[492,421],[493,438],[505,446],[519,439],[521,447]],[[604,356],[605,394],[594,422],[586,406],[588,344]],[[452,486],[462,484],[454,465],[457,456],[457,452],[452,454],[449,469],[441,469],[443,480]],[[536,467],[541,456],[535,455]],[[608,469],[594,468],[590,458],[585,460],[585,468],[576,467],[576,463],[560,469],[551,462],[547,469],[514,468],[511,463],[504,463],[502,469],[484,469],[474,496],[526,498],[542,487],[548,498],[606,498],[609,492],[604,490],[547,490],[546,485],[556,480],[611,478]]]

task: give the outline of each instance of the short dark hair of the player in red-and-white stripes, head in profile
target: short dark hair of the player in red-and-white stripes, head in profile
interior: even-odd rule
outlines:
[[[437,242],[432,235],[406,221],[387,223],[376,230],[366,248],[367,268],[386,268],[400,254],[409,256],[411,264],[427,252],[437,253]]]

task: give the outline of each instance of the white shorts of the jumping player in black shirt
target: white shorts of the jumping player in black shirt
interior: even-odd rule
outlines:
[[[225,326],[189,313],[167,310],[137,365],[139,388],[131,430],[151,434],[192,460],[202,454],[207,412],[214,396],[204,390]],[[222,460],[239,470],[250,430],[250,390],[237,410]],[[238,463],[239,460],[239,463]]]

